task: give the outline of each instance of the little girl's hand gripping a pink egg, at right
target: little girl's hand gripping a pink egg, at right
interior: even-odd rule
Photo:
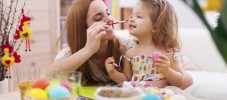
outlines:
[[[156,66],[163,73],[168,71],[170,68],[169,58],[165,55],[160,55],[159,58],[155,59],[154,66]]]

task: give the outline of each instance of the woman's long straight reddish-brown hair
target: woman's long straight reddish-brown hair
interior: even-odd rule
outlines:
[[[87,40],[87,13],[90,6],[90,3],[94,0],[76,0],[72,5],[67,21],[66,21],[66,32],[68,45],[70,47],[71,53],[75,53],[82,49]],[[111,40],[108,42],[108,51],[107,57],[114,56],[116,61],[119,61],[120,50],[119,42],[117,40]],[[104,61],[103,61],[104,63]],[[91,66],[89,60],[87,60],[83,65],[77,69],[82,72],[82,84],[83,85],[97,85],[97,84],[108,84],[100,79],[100,76],[97,76],[99,73],[95,73],[94,67]],[[102,70],[106,75],[106,70]],[[109,77],[108,77],[109,78]]]

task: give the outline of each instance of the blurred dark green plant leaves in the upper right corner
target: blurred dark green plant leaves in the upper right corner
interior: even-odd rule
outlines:
[[[183,1],[187,3],[187,0]],[[218,19],[218,26],[216,29],[213,29],[209,25],[197,0],[193,0],[193,6],[191,7],[209,30],[216,47],[225,62],[227,62],[227,0],[222,0],[222,2],[223,9],[220,12],[220,18]]]

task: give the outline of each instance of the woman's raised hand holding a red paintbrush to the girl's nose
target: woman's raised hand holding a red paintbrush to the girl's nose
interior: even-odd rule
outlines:
[[[106,34],[106,29],[109,28],[109,25],[106,25],[104,22],[94,23],[87,29],[87,41],[85,48],[92,51],[93,53],[97,52],[100,48],[101,38]]]

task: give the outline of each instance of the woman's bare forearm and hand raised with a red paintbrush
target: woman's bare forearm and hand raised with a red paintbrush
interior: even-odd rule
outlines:
[[[74,71],[86,62],[100,48],[102,36],[106,34],[105,28],[109,26],[104,23],[94,23],[87,29],[87,41],[84,48],[73,53],[71,56],[55,61],[52,65],[45,69],[45,73],[49,73],[55,69],[61,71]],[[76,33],[75,33],[76,34]]]

